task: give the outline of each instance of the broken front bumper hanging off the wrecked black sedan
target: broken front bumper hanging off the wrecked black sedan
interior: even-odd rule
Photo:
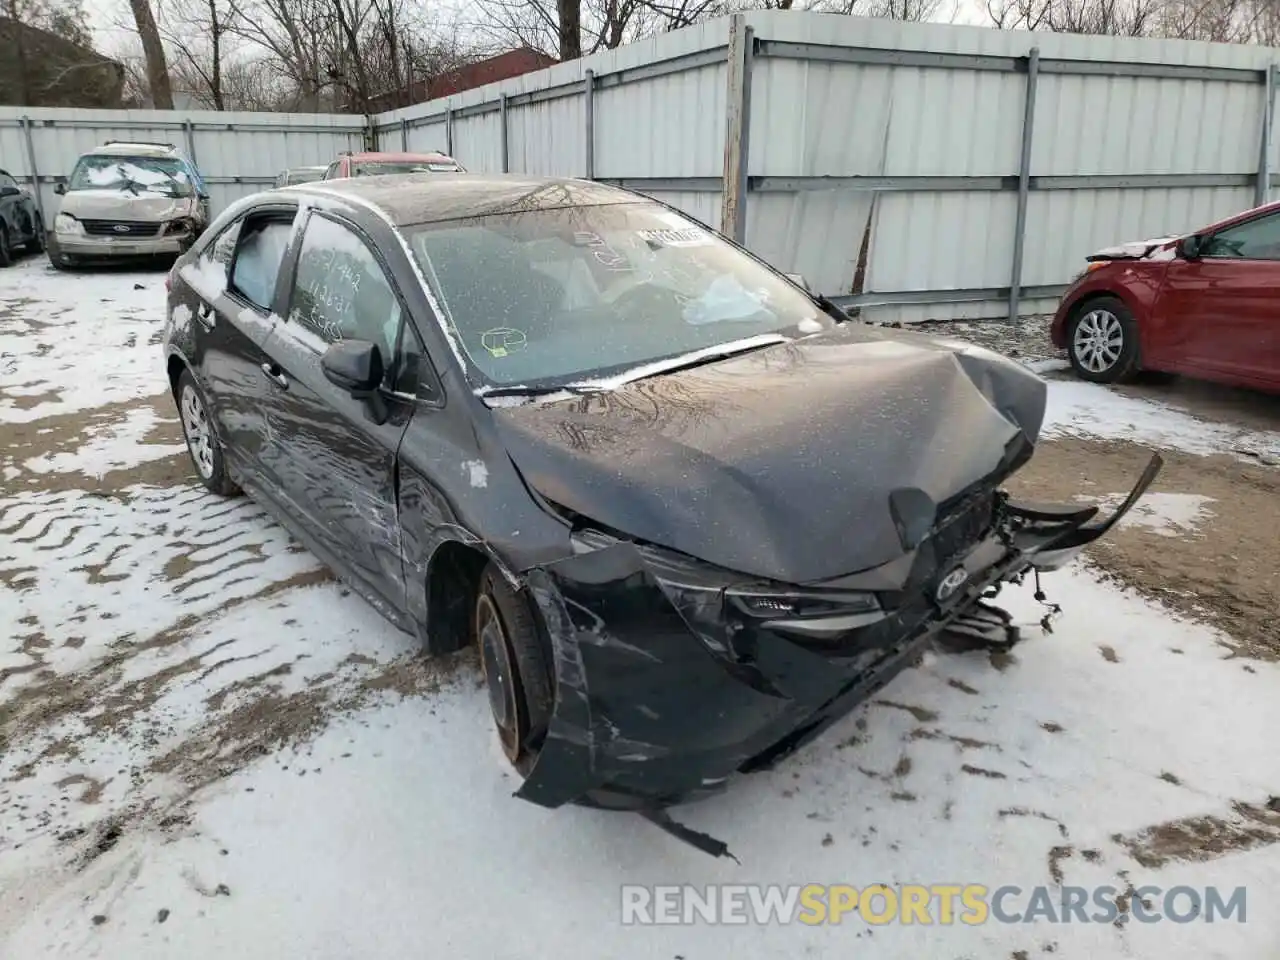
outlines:
[[[992,522],[957,554],[931,556],[925,544],[904,558],[911,573],[901,590],[877,593],[877,611],[833,603],[790,616],[777,600],[771,616],[762,609],[785,590],[754,594],[755,607],[744,607],[709,573],[604,538],[530,571],[554,657],[556,709],[517,796],[543,806],[658,810],[771,765],[911,666],[992,588],[1061,567],[1105,535],[1161,466],[1153,457],[1103,520],[1097,507],[998,497]],[[849,598],[851,585],[883,571],[820,588]],[[809,586],[796,594],[815,595]]]

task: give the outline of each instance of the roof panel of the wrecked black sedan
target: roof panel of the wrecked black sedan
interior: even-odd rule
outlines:
[[[289,189],[351,197],[378,207],[397,227],[644,201],[641,196],[604,183],[524,174],[407,173],[321,180]]]

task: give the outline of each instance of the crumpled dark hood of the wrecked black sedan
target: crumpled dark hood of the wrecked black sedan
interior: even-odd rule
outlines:
[[[1044,392],[989,351],[847,324],[493,415],[554,503],[709,563],[808,582],[906,552],[891,494],[936,506],[1016,468]]]

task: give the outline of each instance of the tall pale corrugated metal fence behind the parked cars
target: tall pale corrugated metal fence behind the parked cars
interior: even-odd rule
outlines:
[[[774,10],[369,124],[384,150],[660,197],[878,319],[1006,316],[1051,308],[1100,246],[1266,198],[1277,61],[1266,47]],[[0,156],[46,183],[108,133],[142,137],[111,127],[123,120],[188,138],[215,202],[358,148],[364,131],[353,116],[6,109]],[[23,133],[35,164],[12,159]]]

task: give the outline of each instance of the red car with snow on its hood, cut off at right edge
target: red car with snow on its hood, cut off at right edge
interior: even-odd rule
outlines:
[[[1051,326],[1079,376],[1156,370],[1280,392],[1280,202],[1087,260]]]

